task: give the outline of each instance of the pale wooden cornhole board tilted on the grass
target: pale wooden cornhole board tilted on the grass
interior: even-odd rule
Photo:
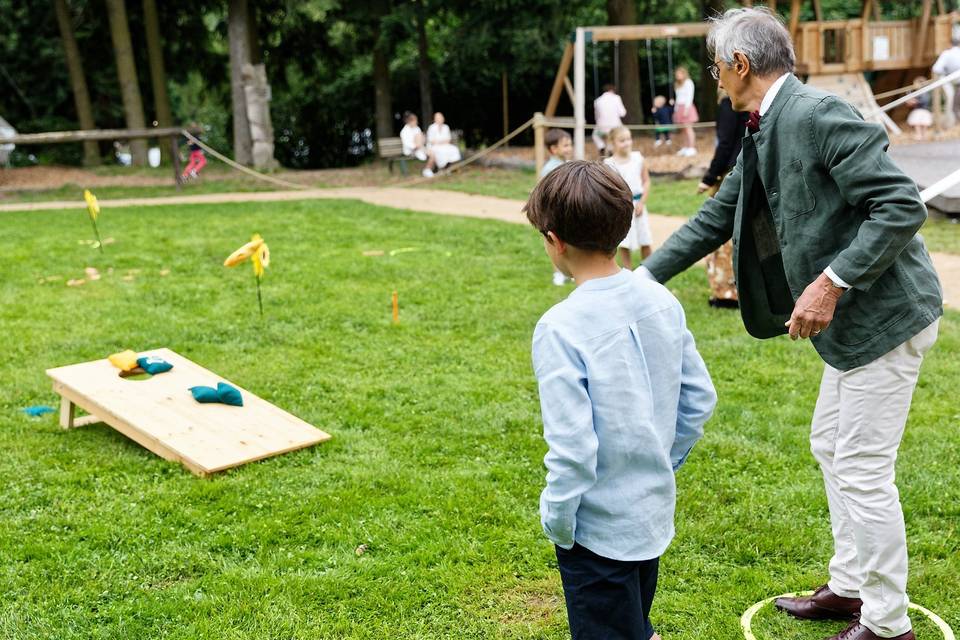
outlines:
[[[190,387],[229,381],[170,349],[152,349],[138,357],[148,355],[163,358],[173,369],[147,380],[121,378],[106,359],[48,369],[53,390],[60,395],[60,425],[70,429],[104,422],[198,476],[330,439],[237,385],[242,407],[200,404]],[[89,415],[77,417],[77,407]]]

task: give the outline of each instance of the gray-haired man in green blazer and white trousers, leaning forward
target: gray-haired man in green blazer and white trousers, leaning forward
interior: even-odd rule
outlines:
[[[711,72],[751,112],[716,197],[644,264],[669,280],[733,238],[740,310],[757,338],[811,338],[825,362],[811,449],[830,506],[830,579],[781,598],[805,619],[844,619],[831,640],[914,635],[894,462],[920,363],[943,313],[917,230],[926,209],[879,125],[801,84],[780,20],[733,9],[708,36]]]

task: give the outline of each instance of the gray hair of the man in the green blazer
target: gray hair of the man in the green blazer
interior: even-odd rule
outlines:
[[[742,53],[760,77],[780,76],[796,66],[790,34],[780,16],[768,9],[729,9],[710,21],[707,48],[718,60],[733,64],[734,52]]]

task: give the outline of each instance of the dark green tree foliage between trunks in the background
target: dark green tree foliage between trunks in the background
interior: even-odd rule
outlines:
[[[701,20],[722,2],[634,2],[640,23]],[[70,0],[73,33],[98,128],[126,126],[104,0]],[[201,123],[209,144],[231,153],[230,61],[227,0],[158,2],[166,86],[173,119]],[[400,115],[421,112],[422,19],[429,56],[433,108],[443,111],[470,145],[503,134],[502,82],[509,86],[509,126],[542,110],[563,47],[577,25],[606,24],[614,0],[249,0],[252,46],[267,67],[272,88],[275,155],[294,168],[344,166],[371,153],[377,131],[374,50],[386,54],[393,134]],[[733,6],[731,3],[728,3]],[[786,4],[786,3],[781,3]],[[809,5],[810,3],[805,3]],[[886,18],[914,17],[919,2],[881,2]],[[948,10],[960,5],[950,0]],[[825,19],[859,14],[860,0],[822,0]],[[148,123],[156,120],[145,38],[144,8],[126,10]],[[781,8],[785,11],[785,8]],[[805,7],[812,19],[812,7]],[[0,116],[19,131],[79,128],[64,46],[49,0],[0,0]],[[597,82],[612,81],[613,46],[596,45]],[[657,92],[667,90],[666,43],[652,46]],[[594,49],[588,45],[592,66]],[[645,43],[639,46],[642,102],[650,97]],[[703,43],[674,42],[674,64],[695,80],[705,65]],[[588,69],[588,99],[594,80]],[[702,97],[702,96],[701,96]],[[561,103],[563,104],[563,102]],[[707,113],[709,113],[709,105]],[[569,111],[568,106],[562,106]],[[386,123],[381,123],[384,127]],[[110,150],[101,145],[100,152]],[[78,164],[80,145],[31,147],[14,154],[18,164]],[[111,154],[112,155],[112,154]]]

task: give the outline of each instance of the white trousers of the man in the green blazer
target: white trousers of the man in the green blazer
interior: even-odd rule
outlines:
[[[860,622],[876,635],[911,629],[907,537],[894,464],[923,356],[937,320],[889,353],[849,371],[825,365],[810,448],[830,506],[830,590],[863,600]]]

